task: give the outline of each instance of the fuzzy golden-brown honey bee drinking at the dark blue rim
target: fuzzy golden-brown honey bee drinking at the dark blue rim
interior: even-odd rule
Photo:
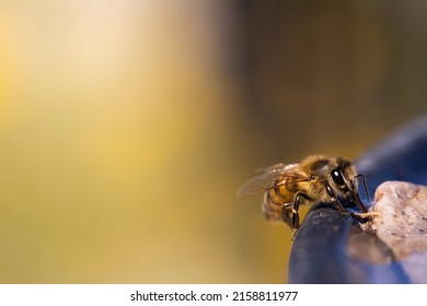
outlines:
[[[264,191],[262,211],[269,221],[284,221],[293,229],[292,238],[300,226],[298,210],[301,204],[333,202],[339,211],[348,213],[339,199],[356,203],[361,213],[353,215],[362,220],[370,214],[358,193],[358,178],[355,165],[343,157],[310,155],[298,164],[277,164],[250,179],[238,190],[238,195],[253,195]]]

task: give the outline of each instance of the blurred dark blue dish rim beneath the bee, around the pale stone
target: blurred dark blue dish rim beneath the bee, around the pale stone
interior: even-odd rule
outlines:
[[[427,117],[395,131],[355,163],[368,189],[385,180],[427,183]],[[333,204],[313,207],[295,238],[289,260],[290,283],[425,282],[426,254],[396,260],[376,235],[362,232],[351,215]],[[361,259],[362,258],[362,259]],[[422,264],[423,269],[419,269]]]

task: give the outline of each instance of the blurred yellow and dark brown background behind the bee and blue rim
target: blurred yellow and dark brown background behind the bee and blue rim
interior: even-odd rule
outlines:
[[[1,283],[281,283],[235,190],[426,111],[422,1],[0,4]]]

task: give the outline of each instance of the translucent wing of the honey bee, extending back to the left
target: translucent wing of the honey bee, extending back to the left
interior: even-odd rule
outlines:
[[[257,169],[256,172],[261,174],[243,184],[243,186],[238,189],[238,195],[250,196],[266,191],[274,186],[279,177],[286,177],[287,174],[293,172],[297,166],[298,164],[276,164],[264,169]]]

